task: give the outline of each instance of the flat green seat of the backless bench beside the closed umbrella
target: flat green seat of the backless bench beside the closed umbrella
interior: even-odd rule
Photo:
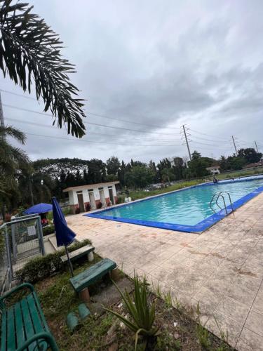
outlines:
[[[69,281],[72,284],[73,289],[79,293],[114,268],[116,268],[116,263],[109,260],[109,258],[104,258],[100,262],[88,268],[88,270],[81,272],[80,274],[76,275],[76,277],[70,278]]]

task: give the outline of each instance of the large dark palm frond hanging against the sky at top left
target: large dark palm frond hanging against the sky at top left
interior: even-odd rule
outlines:
[[[73,98],[79,89],[67,75],[74,72],[74,65],[62,58],[58,34],[31,13],[32,7],[0,0],[0,69],[29,93],[34,81],[44,111],[50,110],[60,128],[66,124],[68,133],[81,138],[85,134],[83,100]]]

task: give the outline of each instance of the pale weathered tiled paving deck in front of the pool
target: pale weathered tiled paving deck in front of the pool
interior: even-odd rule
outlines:
[[[263,350],[263,194],[202,234],[143,227],[81,215],[67,217],[78,239],[126,274],[182,305],[200,304],[202,324],[241,351]],[[215,322],[215,319],[217,322]],[[218,328],[218,326],[220,329]]]

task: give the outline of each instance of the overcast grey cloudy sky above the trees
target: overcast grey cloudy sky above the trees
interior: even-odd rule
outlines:
[[[231,154],[231,135],[263,152],[262,0],[29,2],[60,34],[87,100],[77,140],[20,110],[43,106],[0,72],[6,124],[27,133],[32,159],[184,157],[183,124],[191,152]]]

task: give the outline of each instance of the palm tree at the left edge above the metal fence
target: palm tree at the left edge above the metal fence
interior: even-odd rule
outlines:
[[[0,126],[0,204],[4,218],[4,204],[10,203],[12,195],[18,195],[18,181],[15,176],[29,162],[27,154],[11,145],[7,137],[25,144],[25,134],[12,126]]]

